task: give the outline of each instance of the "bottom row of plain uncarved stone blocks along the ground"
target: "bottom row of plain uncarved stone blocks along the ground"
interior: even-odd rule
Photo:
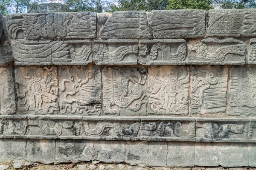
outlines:
[[[148,166],[255,167],[256,145],[195,142],[109,142],[1,139],[0,160],[43,163],[93,161]]]

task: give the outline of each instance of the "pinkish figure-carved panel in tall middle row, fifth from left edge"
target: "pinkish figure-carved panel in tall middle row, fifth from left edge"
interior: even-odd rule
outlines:
[[[151,67],[147,80],[148,114],[188,114],[189,67]]]

